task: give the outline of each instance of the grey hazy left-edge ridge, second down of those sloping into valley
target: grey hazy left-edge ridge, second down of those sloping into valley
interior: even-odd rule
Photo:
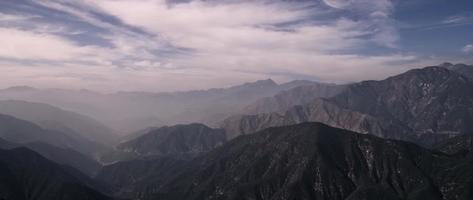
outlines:
[[[31,122],[0,114],[0,138],[19,144],[43,142],[62,148],[71,148],[94,156],[104,148],[78,135],[43,129]]]

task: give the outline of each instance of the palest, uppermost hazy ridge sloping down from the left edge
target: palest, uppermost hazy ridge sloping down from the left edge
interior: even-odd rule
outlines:
[[[110,143],[117,137],[113,130],[90,117],[43,103],[0,101],[0,113],[33,122],[45,129],[79,134],[91,141]]]

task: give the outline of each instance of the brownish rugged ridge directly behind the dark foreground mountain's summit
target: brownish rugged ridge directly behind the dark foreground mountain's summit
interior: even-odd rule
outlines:
[[[359,133],[370,133],[387,137],[396,134],[400,139],[408,137],[407,127],[391,124],[371,115],[341,108],[334,103],[316,99],[303,106],[293,106],[284,113],[272,112],[257,115],[237,115],[223,121],[222,127],[229,138],[250,134],[268,127],[293,125],[302,122],[322,122],[330,126],[344,128]]]

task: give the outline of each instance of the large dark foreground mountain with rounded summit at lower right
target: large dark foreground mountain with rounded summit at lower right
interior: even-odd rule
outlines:
[[[473,198],[471,162],[320,123],[268,128],[237,137],[187,164],[170,163],[156,161],[152,170],[173,175],[137,175],[138,180],[130,181],[130,174],[143,167],[129,172],[128,163],[115,168],[118,177],[102,177],[131,183],[125,188],[139,199]]]

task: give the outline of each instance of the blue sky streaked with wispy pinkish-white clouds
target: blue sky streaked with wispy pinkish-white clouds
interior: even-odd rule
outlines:
[[[347,83],[473,64],[471,0],[0,0],[0,88]]]

